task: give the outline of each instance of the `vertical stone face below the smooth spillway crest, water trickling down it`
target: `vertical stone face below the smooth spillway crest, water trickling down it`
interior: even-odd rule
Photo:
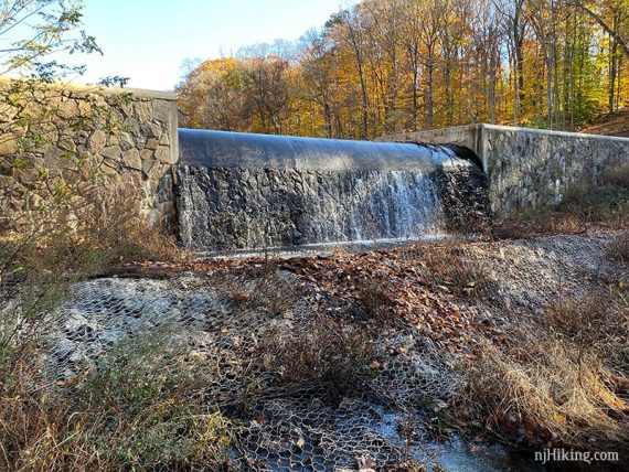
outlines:
[[[177,173],[181,240],[211,253],[417,239],[469,227],[486,207],[484,174],[473,164],[431,172],[180,164]]]

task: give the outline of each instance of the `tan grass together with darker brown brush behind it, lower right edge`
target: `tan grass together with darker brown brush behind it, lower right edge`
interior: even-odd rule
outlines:
[[[620,302],[619,302],[620,301]],[[610,294],[562,299],[539,322],[512,318],[479,344],[459,393],[465,416],[509,442],[629,450],[629,310]]]

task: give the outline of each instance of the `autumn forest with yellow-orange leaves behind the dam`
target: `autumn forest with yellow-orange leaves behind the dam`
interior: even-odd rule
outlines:
[[[372,139],[471,122],[578,130],[625,105],[629,0],[363,0],[209,60],[190,128]]]

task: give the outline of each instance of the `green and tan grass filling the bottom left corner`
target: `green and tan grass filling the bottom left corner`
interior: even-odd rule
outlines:
[[[195,395],[204,373],[164,345],[121,343],[95,372],[55,385],[20,363],[0,396],[0,469],[226,470],[236,429]]]

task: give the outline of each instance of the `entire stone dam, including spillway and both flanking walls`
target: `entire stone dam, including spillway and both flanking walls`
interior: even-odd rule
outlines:
[[[78,108],[92,92],[64,99]],[[132,89],[128,105],[118,94],[102,90],[103,112],[124,124],[113,136],[67,129],[72,142],[39,154],[0,150],[25,167],[0,175],[0,225],[28,228],[55,201],[39,169],[67,175],[68,147],[107,189],[132,193],[150,226],[225,255],[476,233],[483,221],[558,204],[572,184],[599,184],[629,155],[628,138],[486,124],[375,142],[181,129],[175,94]]]

